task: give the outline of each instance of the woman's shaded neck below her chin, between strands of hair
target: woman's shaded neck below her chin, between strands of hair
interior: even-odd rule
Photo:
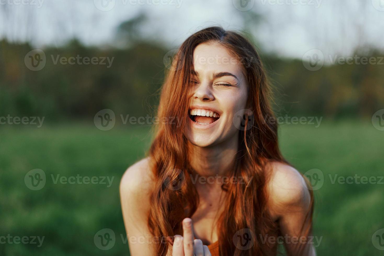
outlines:
[[[222,178],[235,165],[238,151],[238,134],[231,139],[210,147],[199,147],[188,144],[188,158],[193,174],[205,178]],[[212,179],[212,178],[211,178]]]

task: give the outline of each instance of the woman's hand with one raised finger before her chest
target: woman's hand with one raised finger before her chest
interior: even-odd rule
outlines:
[[[175,235],[172,256],[211,256],[208,246],[200,239],[194,239],[192,220],[183,220],[183,236]],[[170,255],[170,254],[169,254]]]

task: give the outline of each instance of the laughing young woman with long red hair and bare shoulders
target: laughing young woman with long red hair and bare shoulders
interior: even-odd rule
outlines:
[[[281,156],[269,96],[239,33],[209,27],[184,41],[149,156],[121,180],[132,256],[276,255],[281,243],[315,255],[311,190]]]

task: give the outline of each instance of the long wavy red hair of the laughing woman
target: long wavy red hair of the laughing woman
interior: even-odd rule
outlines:
[[[239,131],[235,168],[230,175],[246,177],[246,180],[253,177],[253,180],[248,185],[247,182],[239,182],[222,186],[226,196],[225,211],[217,222],[220,253],[222,256],[271,255],[274,253],[271,245],[258,239],[270,235],[271,230],[276,231],[278,228],[268,213],[266,168],[271,161],[286,163],[278,147],[277,124],[267,120],[273,117],[270,107],[271,91],[262,62],[252,43],[240,33],[226,31],[217,26],[200,30],[182,43],[162,86],[158,116],[160,119],[166,117],[167,120],[175,117],[177,122],[161,122],[156,127],[156,136],[149,150],[156,185],[151,196],[148,225],[156,237],[166,238],[180,234],[177,231],[182,230],[182,220],[190,218],[199,203],[199,195],[189,175],[191,168],[187,155],[187,139],[183,131],[189,118],[188,91],[192,86],[189,81],[193,70],[194,49],[207,42],[224,46],[241,61],[248,84],[247,108],[252,111],[252,115],[244,117],[247,129]],[[169,189],[167,184],[178,182],[180,175],[182,184],[176,189]],[[311,200],[311,209],[308,212],[310,219],[312,205]],[[232,239],[242,229],[249,229],[255,234],[254,244],[247,250],[239,249]],[[169,243],[159,243],[157,254],[166,255],[169,246]]]

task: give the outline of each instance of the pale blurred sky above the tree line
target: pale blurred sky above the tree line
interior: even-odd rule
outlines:
[[[384,48],[384,0],[0,0],[0,38],[36,48],[74,37],[114,45],[118,25],[140,13],[142,36],[169,49],[211,25],[246,29],[263,51],[292,58],[312,49],[353,56],[357,47]]]

